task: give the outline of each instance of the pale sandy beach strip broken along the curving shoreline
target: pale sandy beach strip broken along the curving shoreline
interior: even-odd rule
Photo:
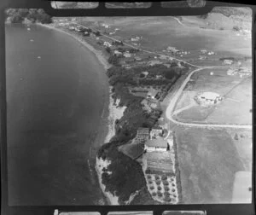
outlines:
[[[92,45],[88,44],[83,38],[79,38],[79,36],[75,35],[73,32],[69,32],[69,30],[64,30],[61,29],[57,26],[54,26],[52,24],[49,25],[42,25],[39,24],[40,26],[45,26],[48,27],[49,29],[53,29],[58,32],[63,32],[66,33],[68,36],[76,39],[79,41],[80,44],[83,44],[86,49],[90,49],[90,51],[96,55],[96,58],[99,60],[100,63],[102,63],[102,66],[104,67],[106,73],[109,67],[111,65],[108,63],[108,60],[106,57],[103,55],[101,50],[95,49]],[[104,143],[107,143],[111,140],[111,138],[115,135],[115,120],[120,119],[125,111],[126,107],[119,107],[119,100],[114,101],[112,98],[112,87],[109,87],[109,102],[106,102],[106,106],[108,105],[108,109],[103,108],[102,111],[102,124],[100,125],[96,139],[95,139],[95,145],[96,146],[101,146]],[[96,173],[98,177],[98,181],[100,184],[100,187],[102,189],[102,193],[105,195],[105,197],[108,200],[109,205],[119,205],[119,197],[112,195],[110,192],[106,192],[106,186],[102,183],[102,168],[105,166],[107,167],[109,165],[108,161],[106,160],[99,160],[96,158]]]

